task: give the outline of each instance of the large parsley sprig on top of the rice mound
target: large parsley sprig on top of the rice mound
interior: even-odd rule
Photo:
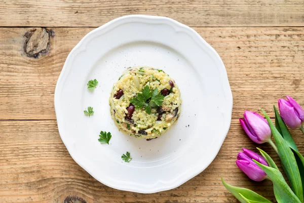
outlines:
[[[147,85],[137,93],[136,97],[130,99],[135,109],[144,108],[147,114],[151,114],[151,108],[159,107],[164,101],[164,95],[158,92],[158,88],[151,90]]]

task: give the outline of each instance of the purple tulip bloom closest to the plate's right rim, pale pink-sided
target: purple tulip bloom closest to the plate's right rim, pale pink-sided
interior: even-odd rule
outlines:
[[[266,119],[252,111],[245,111],[240,123],[248,137],[257,144],[271,142],[271,129]]]

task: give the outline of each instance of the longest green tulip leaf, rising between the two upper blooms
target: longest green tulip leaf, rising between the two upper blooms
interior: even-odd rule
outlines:
[[[290,149],[289,144],[287,143],[287,141],[285,141],[283,139],[283,137],[281,136],[281,134],[279,133],[279,131],[277,130],[277,128],[275,127],[273,122],[270,120],[267,113],[264,110],[262,110],[262,112],[265,115],[265,117],[269,123],[270,129],[272,131],[272,134],[274,136],[274,139],[275,139],[275,142],[276,142],[276,145],[278,148],[278,154],[281,159],[283,169],[291,184],[291,188],[294,191],[294,193],[296,194],[296,196],[300,199],[300,201],[304,202],[303,186],[302,186],[302,181],[301,181],[301,177],[300,177],[300,172],[299,172],[296,160],[295,160],[295,156],[294,156],[292,150]],[[278,121],[280,121],[279,117],[278,117]],[[281,128],[281,130],[283,132],[282,128]],[[288,201],[286,201],[286,202],[288,202]]]

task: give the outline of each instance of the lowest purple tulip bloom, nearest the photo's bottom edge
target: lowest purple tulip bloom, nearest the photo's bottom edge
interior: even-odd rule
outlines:
[[[249,149],[243,148],[243,152],[239,152],[237,156],[236,163],[240,170],[242,170],[251,180],[254,181],[262,181],[265,178],[267,178],[267,174],[261,168],[252,160],[256,160],[260,162],[261,164],[267,165],[268,163],[265,161],[265,159],[258,155],[257,153],[254,153],[253,151],[250,151]]]

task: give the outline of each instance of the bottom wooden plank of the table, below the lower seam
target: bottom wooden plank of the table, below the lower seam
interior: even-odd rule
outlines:
[[[292,131],[299,150],[304,137]],[[238,119],[212,164],[180,187],[156,194],[137,194],[111,189],[96,181],[75,163],[63,145],[56,121],[0,121],[0,202],[63,202],[79,196],[87,202],[238,202],[222,186],[247,187],[274,200],[272,183],[250,181],[236,166],[242,147],[260,147],[279,163],[268,144],[257,145],[245,136]],[[94,200],[93,200],[94,199]]]

